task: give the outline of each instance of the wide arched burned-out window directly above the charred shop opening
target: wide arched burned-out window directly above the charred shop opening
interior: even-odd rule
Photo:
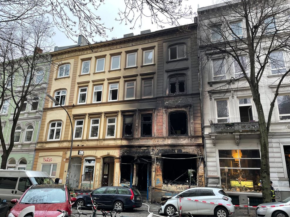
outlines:
[[[169,136],[187,135],[186,112],[171,112],[169,114]]]

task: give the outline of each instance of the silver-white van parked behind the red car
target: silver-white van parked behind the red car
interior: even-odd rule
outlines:
[[[0,170],[0,198],[10,203],[20,199],[33,184],[54,184],[46,172],[29,170]]]

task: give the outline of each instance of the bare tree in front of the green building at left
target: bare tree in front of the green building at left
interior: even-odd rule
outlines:
[[[13,21],[5,25],[10,31],[1,32],[1,36],[8,40],[0,42],[0,110],[7,110],[4,102],[10,102],[13,107],[13,123],[9,143],[6,143],[0,125],[3,150],[1,169],[6,169],[7,159],[14,147],[14,134],[20,112],[28,103],[33,103],[33,98],[40,97],[45,92],[46,84],[43,84],[41,78],[45,74],[38,74],[37,69],[40,63],[50,61],[49,53],[43,53],[42,49],[51,49],[49,37],[52,34],[51,26],[44,18],[25,25]],[[0,122],[1,118],[0,116]]]

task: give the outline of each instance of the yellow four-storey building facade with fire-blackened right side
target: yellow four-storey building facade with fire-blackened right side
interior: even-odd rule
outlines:
[[[205,186],[196,34],[193,23],[52,52],[48,94],[73,117],[72,187],[158,201]],[[71,133],[47,100],[33,169],[65,182]]]

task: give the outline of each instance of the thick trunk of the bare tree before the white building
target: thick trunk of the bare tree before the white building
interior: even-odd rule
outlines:
[[[260,99],[258,87],[252,90],[253,101],[257,108],[257,114],[260,127],[260,145],[261,145],[261,169],[260,177],[262,180],[262,196],[263,202],[272,202],[271,199],[271,184],[270,184],[270,165],[269,165],[269,141],[268,130],[265,121],[264,111]]]

